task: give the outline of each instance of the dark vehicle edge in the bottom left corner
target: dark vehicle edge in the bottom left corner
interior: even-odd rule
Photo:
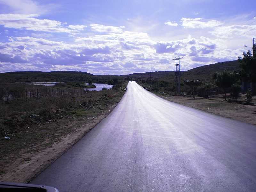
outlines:
[[[1,192],[59,192],[58,189],[54,187],[49,187],[45,185],[32,185],[26,183],[11,183],[11,182],[0,182]]]

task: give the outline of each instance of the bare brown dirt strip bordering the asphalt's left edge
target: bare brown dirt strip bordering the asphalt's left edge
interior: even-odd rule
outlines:
[[[63,118],[51,124],[41,125],[38,130],[47,129],[47,126],[58,126],[61,130],[69,131],[63,137],[59,134],[57,142],[44,141],[41,144],[32,144],[30,148],[4,157],[5,163],[0,166],[0,181],[29,182],[105,118],[116,104],[104,108],[98,116]]]

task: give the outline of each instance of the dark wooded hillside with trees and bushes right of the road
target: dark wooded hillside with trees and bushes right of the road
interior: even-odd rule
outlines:
[[[224,94],[224,100],[228,102],[244,101],[248,104],[247,100],[251,100],[250,95],[256,95],[256,61],[250,51],[243,54],[244,57],[236,61],[216,63],[181,72],[181,95],[193,96],[195,99],[195,95],[208,98],[214,94]],[[148,74],[132,74],[128,77],[137,78],[141,86],[156,94],[177,94],[175,72],[149,72]],[[241,100],[242,82],[251,83],[252,86],[251,89],[248,88],[247,93],[243,92],[247,94],[246,100]],[[227,93],[229,93],[228,96]]]

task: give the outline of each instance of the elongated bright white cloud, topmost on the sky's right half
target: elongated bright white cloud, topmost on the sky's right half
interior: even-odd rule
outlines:
[[[182,26],[185,28],[214,28],[222,25],[220,21],[208,20],[202,21],[202,18],[181,18]]]

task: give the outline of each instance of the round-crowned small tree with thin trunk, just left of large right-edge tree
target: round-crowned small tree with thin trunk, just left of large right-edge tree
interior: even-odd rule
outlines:
[[[215,84],[224,90],[225,94],[225,101],[227,100],[227,90],[231,87],[232,84],[235,84],[236,81],[238,80],[238,74],[236,72],[227,72],[223,71],[221,73],[216,73],[213,76],[213,80]]]

